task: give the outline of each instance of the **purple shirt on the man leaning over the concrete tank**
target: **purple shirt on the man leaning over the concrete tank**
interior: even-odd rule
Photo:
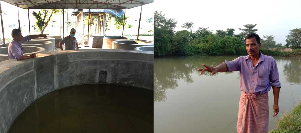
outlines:
[[[20,60],[21,56],[23,56],[22,43],[30,40],[30,36],[23,37],[20,42],[15,41],[14,39],[8,45],[8,53],[7,56],[10,59]]]

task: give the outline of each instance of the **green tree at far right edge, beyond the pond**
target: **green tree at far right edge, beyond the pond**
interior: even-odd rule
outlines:
[[[286,47],[301,48],[301,29],[292,29],[286,36]]]

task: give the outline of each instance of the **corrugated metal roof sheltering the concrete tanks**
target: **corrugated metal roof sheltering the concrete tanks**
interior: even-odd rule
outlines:
[[[154,0],[2,0],[23,9],[129,9]]]

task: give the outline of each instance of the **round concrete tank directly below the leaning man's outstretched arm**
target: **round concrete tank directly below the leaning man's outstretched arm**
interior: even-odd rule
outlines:
[[[50,41],[26,41],[22,43],[22,46],[35,46],[45,48],[45,51],[54,51],[53,43]]]

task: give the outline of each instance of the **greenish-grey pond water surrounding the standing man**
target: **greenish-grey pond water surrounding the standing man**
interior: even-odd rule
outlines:
[[[239,71],[200,75],[202,64],[217,66],[237,56],[178,56],[154,59],[155,133],[234,133],[240,99]],[[280,112],[273,115],[269,91],[269,130],[301,99],[301,58],[274,57],[280,75]]]

